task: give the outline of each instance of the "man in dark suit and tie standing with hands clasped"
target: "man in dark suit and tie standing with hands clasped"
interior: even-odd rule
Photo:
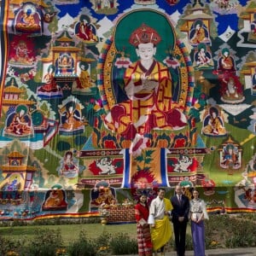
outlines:
[[[186,230],[189,221],[189,198],[183,195],[183,189],[176,186],[176,195],[171,198],[172,224],[175,236],[177,256],[185,255]]]

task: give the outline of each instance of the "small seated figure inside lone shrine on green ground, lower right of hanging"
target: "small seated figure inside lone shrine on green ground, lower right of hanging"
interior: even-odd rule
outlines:
[[[222,159],[220,160],[220,166],[222,168],[238,169],[241,166],[239,160],[238,148],[234,144],[227,144],[223,148]]]

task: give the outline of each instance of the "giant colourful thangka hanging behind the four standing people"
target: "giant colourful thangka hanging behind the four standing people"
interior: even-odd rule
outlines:
[[[0,218],[255,212],[255,49],[255,1],[1,1]]]

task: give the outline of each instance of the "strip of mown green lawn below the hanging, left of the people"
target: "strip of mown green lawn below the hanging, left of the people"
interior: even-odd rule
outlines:
[[[136,239],[137,237],[136,224],[62,224],[1,227],[0,236],[14,240],[20,239],[21,236],[26,236],[27,240],[29,241],[33,236],[36,236],[35,234],[37,232],[46,229],[60,230],[64,245],[67,245],[70,241],[75,241],[79,237],[81,230],[84,230],[87,236],[90,238],[96,238],[100,236],[102,232],[108,232],[110,234],[126,233],[131,238]]]

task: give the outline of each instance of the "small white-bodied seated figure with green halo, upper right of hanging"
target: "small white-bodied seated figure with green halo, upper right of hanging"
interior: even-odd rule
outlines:
[[[206,44],[198,44],[198,51],[195,53],[195,69],[213,68],[212,55],[207,51]]]

